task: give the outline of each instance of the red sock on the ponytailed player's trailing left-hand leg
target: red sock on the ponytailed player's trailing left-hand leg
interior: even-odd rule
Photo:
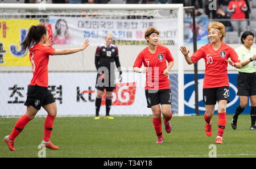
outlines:
[[[9,136],[9,139],[11,141],[14,141],[15,138],[19,135],[20,132],[22,132],[22,130],[30,120],[31,119],[27,115],[20,117],[14,126],[13,132],[11,132]]]

